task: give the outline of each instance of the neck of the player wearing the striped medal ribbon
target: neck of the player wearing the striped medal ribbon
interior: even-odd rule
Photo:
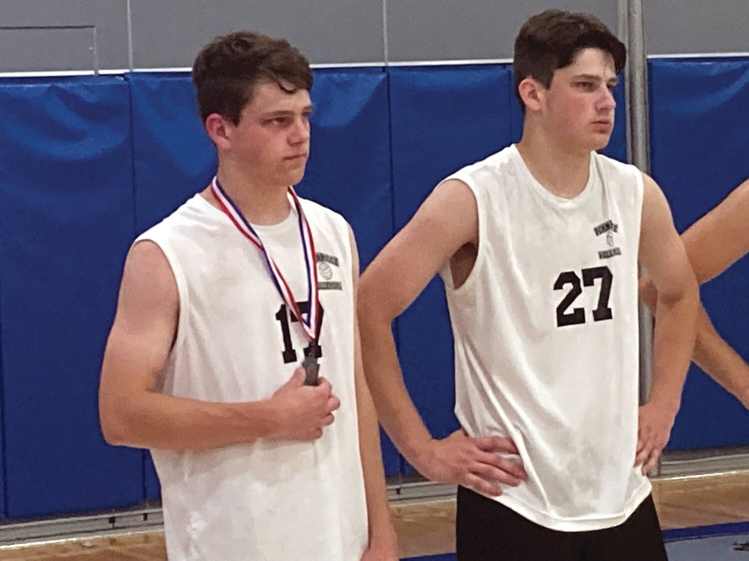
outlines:
[[[225,162],[219,163],[216,177],[221,188],[251,224],[270,226],[279,224],[288,216],[291,209],[287,197],[288,186],[260,182],[246,171]],[[208,195],[210,203],[216,206],[213,195]]]

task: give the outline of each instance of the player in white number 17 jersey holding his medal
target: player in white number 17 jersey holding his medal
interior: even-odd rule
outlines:
[[[395,560],[354,236],[291,187],[309,156],[309,64],[236,32],[192,78],[218,171],[130,250],[103,433],[151,449],[170,560]]]

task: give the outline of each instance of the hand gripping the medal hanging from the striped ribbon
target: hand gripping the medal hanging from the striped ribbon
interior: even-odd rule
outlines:
[[[278,426],[270,438],[288,441],[320,438],[323,427],[333,423],[333,411],[341,405],[325,378],[320,378],[316,386],[304,385],[302,367],[294,370],[291,379],[273,393],[270,402],[279,416]]]

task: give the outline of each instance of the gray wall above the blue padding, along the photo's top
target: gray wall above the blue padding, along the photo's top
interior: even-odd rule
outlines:
[[[749,51],[749,0],[646,0],[651,53]],[[129,67],[127,0],[0,0],[0,72]],[[210,37],[254,28],[287,37],[313,63],[512,57],[527,16],[595,13],[616,0],[130,0],[133,66],[189,67]],[[386,24],[386,25],[385,25]],[[49,29],[7,29],[9,27]],[[3,29],[5,28],[5,29]],[[384,29],[387,29],[385,41]]]

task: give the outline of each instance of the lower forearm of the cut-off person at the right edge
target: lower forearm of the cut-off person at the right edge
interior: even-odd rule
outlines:
[[[694,364],[749,407],[749,364],[721,337],[700,306]]]

